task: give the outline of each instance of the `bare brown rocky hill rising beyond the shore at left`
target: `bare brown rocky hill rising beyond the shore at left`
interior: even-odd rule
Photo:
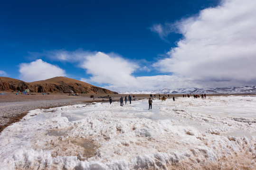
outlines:
[[[34,93],[69,93],[71,90],[74,93],[115,93],[95,85],[62,76],[31,83],[9,77],[0,77],[0,91],[24,91],[25,89],[29,89],[30,92]]]

